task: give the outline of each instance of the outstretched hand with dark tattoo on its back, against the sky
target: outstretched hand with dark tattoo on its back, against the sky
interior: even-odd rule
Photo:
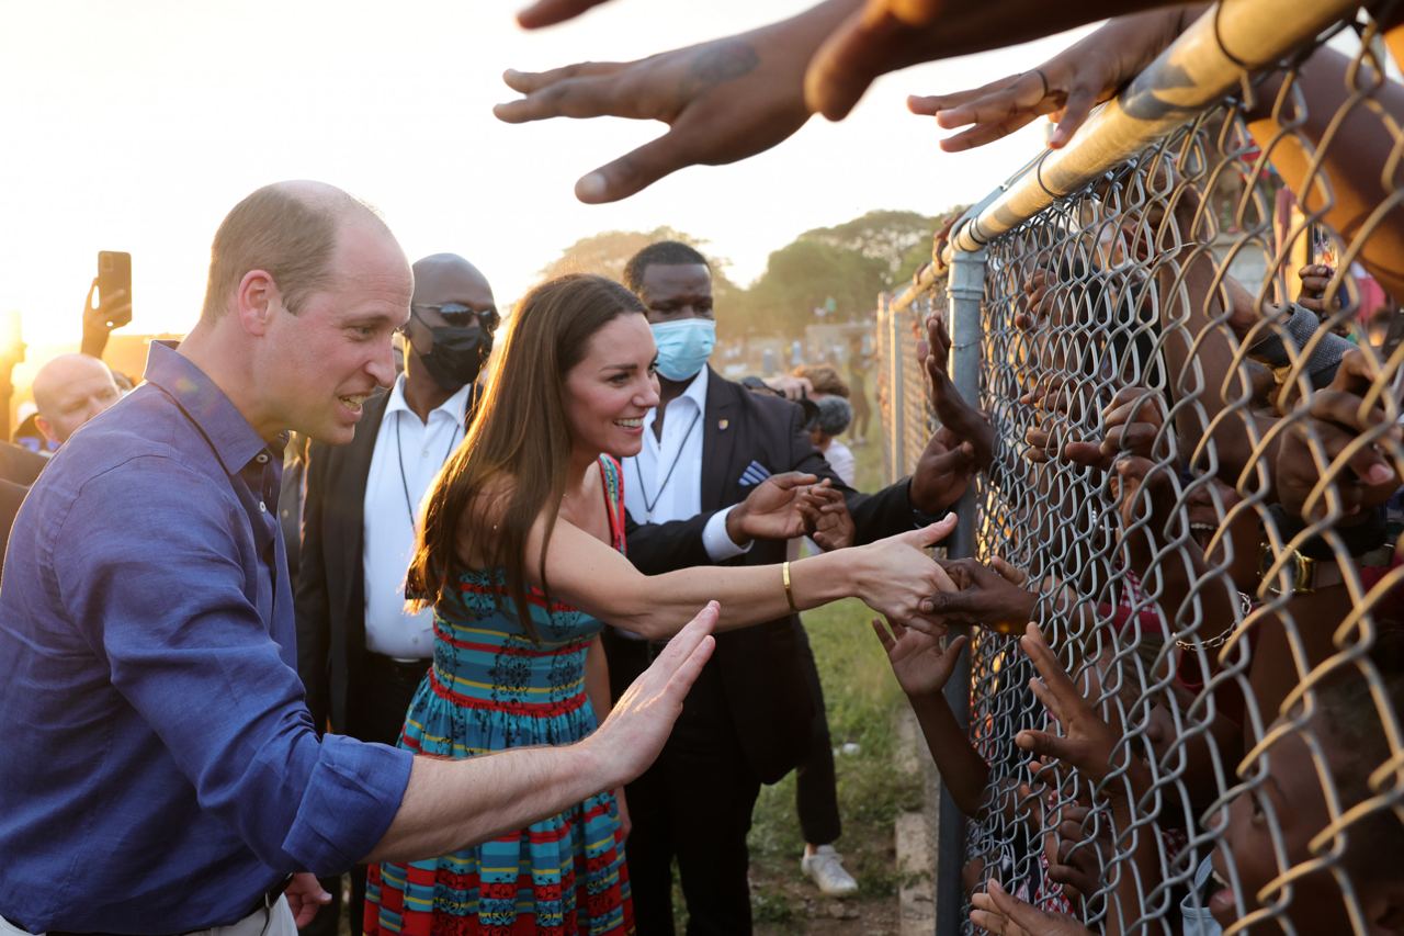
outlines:
[[[847,1],[847,0],[845,0]],[[528,11],[545,25],[590,0],[546,0]],[[524,97],[493,112],[508,124],[552,117],[663,121],[668,132],[585,174],[580,201],[618,201],[685,166],[734,163],[789,138],[809,119],[804,66],[842,10],[820,4],[797,17],[637,62],[581,62],[550,72],[510,70]],[[526,13],[522,14],[524,17]]]

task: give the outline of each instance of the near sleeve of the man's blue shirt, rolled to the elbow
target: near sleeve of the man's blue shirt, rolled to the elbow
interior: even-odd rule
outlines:
[[[247,523],[208,478],[133,460],[74,498],[52,540],[53,580],[201,808],[272,869],[340,871],[385,835],[413,755],[317,738],[298,673],[247,593],[236,533]]]

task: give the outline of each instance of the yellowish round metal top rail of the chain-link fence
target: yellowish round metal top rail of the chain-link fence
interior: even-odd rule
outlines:
[[[1168,136],[1227,94],[1244,66],[1282,59],[1358,6],[1358,0],[1221,0],[1094,114],[1071,143],[1046,150],[991,193],[993,201],[979,212],[967,212],[924,275],[934,281],[956,250],[979,250]]]

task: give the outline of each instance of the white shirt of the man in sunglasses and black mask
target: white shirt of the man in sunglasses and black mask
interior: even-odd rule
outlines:
[[[404,375],[395,381],[380,419],[365,482],[365,645],[373,654],[402,661],[434,655],[434,611],[404,610],[404,575],[414,552],[421,502],[434,476],[463,440],[463,386],[437,409],[428,423],[404,402]],[[413,517],[410,513],[413,505]]]

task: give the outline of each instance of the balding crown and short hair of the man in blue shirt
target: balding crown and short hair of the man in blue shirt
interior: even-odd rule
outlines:
[[[380,216],[336,186],[284,181],[264,186],[230,211],[211,246],[204,320],[219,318],[251,270],[268,273],[284,305],[296,313],[333,277],[338,233],[365,225],[390,238]],[[392,238],[393,239],[393,238]]]

